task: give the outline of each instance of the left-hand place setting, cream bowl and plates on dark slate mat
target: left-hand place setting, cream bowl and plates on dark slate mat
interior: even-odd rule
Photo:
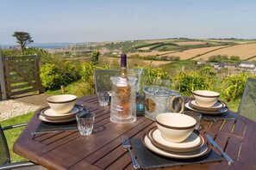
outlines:
[[[48,106],[41,109],[38,114],[38,118],[41,120],[41,123],[39,124],[37,130],[31,132],[31,134],[36,135],[47,132],[71,130],[77,131],[80,127],[87,125],[83,125],[83,119],[84,117],[88,118],[93,113],[89,113],[84,106],[76,104],[76,101],[77,96],[73,94],[59,94],[48,97]],[[91,122],[93,122],[94,114],[88,119],[92,119]],[[87,129],[81,128],[81,135],[91,134],[91,129],[89,132]]]

